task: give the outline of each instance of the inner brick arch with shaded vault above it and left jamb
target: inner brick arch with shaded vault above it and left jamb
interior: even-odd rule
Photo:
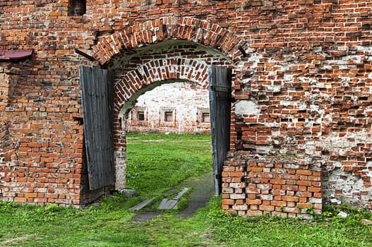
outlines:
[[[126,176],[125,122],[136,99],[158,85],[177,81],[208,88],[208,64],[231,66],[231,62],[226,56],[200,44],[167,40],[137,49],[125,62],[114,64],[116,189],[121,190],[125,188]]]

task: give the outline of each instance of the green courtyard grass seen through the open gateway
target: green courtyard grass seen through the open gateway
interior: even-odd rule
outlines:
[[[128,134],[127,188],[157,195],[212,170],[210,135]]]

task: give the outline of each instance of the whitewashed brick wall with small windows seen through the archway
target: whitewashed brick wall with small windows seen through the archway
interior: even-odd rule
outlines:
[[[137,98],[126,130],[138,133],[210,134],[209,90],[194,83],[167,83]]]

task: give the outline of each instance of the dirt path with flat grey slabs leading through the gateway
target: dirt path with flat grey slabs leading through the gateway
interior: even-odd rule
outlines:
[[[208,201],[210,200],[214,190],[213,173],[211,171],[208,172],[208,174],[189,178],[181,183],[179,186],[177,186],[177,188],[180,187],[184,187],[184,189],[179,192],[173,199],[163,199],[162,203],[160,203],[158,207],[158,210],[176,208],[179,198],[181,198],[182,195],[184,195],[184,193],[186,193],[189,188],[193,188],[191,194],[189,195],[188,206],[176,215],[176,217],[179,217],[180,219],[185,219],[193,216],[196,210],[198,210],[200,207],[205,207],[206,203],[208,203]],[[176,188],[172,188],[171,190],[167,191],[167,193],[172,194],[174,193],[174,191],[176,191]],[[147,203],[148,200],[145,200],[142,203],[132,207],[131,210],[136,210],[136,208],[142,209],[146,205],[150,204],[154,199],[155,198],[148,199],[151,200],[149,203]],[[144,222],[153,219],[161,214],[161,211],[140,212],[135,217],[133,217],[132,220],[134,222]]]

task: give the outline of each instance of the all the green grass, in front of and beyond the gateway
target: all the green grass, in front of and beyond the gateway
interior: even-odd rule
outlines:
[[[167,210],[149,222],[132,222],[128,208],[161,195],[188,176],[211,170],[208,135],[128,136],[128,187],[137,198],[115,195],[85,210],[0,203],[0,246],[372,246],[369,212],[330,208],[312,220],[236,217],[220,198],[189,219]],[[349,211],[346,219],[339,210]]]

